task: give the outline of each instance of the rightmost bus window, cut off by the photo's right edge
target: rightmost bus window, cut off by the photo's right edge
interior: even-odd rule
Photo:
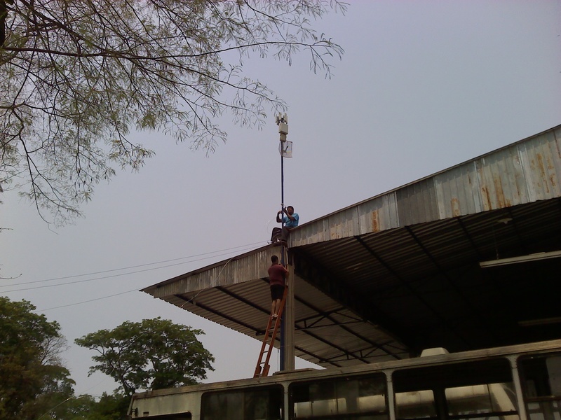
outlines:
[[[520,358],[529,420],[561,420],[561,355]]]

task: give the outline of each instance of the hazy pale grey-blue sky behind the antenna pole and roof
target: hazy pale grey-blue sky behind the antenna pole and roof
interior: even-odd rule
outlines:
[[[271,57],[244,67],[289,106],[285,205],[300,224],[561,124],[559,0],[351,0],[314,27],[345,50],[330,79],[305,53],[292,66]],[[156,156],[97,186],[74,225],[55,228],[2,195],[0,274],[13,279],[0,280],[0,295],[60,323],[76,395],[117,384],[88,377],[95,353],[74,339],[156,316],[205,331],[216,358],[205,381],[252,376],[257,339],[138,290],[268,243],[280,209],[273,113],[268,121],[259,131],[223,118],[229,139],[208,157],[134,134]]]

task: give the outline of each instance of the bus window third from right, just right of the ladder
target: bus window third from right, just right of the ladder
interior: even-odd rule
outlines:
[[[383,374],[294,383],[289,393],[290,419],[388,419]]]

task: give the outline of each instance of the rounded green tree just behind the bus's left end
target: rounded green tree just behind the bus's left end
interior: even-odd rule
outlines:
[[[194,330],[161,318],[140,323],[126,321],[114,330],[99,330],[75,340],[79,346],[97,351],[95,371],[109,375],[126,395],[141,389],[192,385],[205,379],[214,357]]]

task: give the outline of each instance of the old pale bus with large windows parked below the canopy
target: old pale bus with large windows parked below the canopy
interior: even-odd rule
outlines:
[[[136,393],[130,419],[561,420],[561,339]]]

